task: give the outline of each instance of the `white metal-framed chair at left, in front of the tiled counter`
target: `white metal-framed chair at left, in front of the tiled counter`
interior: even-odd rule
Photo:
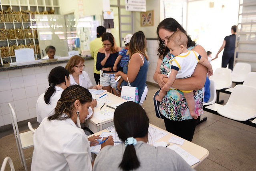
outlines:
[[[15,136],[15,139],[16,139],[18,152],[19,152],[19,155],[20,155],[20,162],[21,162],[22,167],[24,166],[25,170],[27,171],[28,168],[27,168],[27,165],[26,165],[26,159],[25,159],[25,156],[24,156],[23,149],[34,147],[33,134],[32,134],[31,131],[27,131],[27,132],[24,132],[24,133],[19,132],[16,114],[15,114],[13,108],[12,108],[12,105],[10,103],[8,103],[8,105],[9,105],[10,115],[11,115],[11,119],[12,119],[12,127],[13,127],[13,131],[14,131],[14,136]]]

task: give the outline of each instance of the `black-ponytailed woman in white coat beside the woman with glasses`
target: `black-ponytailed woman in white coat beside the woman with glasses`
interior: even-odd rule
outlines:
[[[36,103],[37,122],[39,123],[54,112],[62,91],[70,86],[69,71],[62,66],[53,68],[48,76],[48,82],[48,89],[38,97]]]

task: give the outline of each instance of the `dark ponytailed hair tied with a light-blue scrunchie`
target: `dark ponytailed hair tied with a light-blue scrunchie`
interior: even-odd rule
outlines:
[[[129,137],[145,137],[148,133],[149,118],[141,105],[129,101],[115,109],[114,124],[118,137],[124,142]],[[127,145],[119,167],[128,171],[139,166],[140,162],[134,146]]]

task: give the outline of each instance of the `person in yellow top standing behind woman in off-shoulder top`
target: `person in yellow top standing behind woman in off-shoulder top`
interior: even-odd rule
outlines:
[[[94,58],[93,75],[96,84],[100,81],[100,71],[96,69],[97,54],[100,48],[102,48],[101,36],[106,32],[106,28],[103,26],[97,27],[97,38],[90,42],[90,53]]]

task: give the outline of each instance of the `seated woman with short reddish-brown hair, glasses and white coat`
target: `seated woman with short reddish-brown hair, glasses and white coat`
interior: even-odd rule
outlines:
[[[65,66],[65,68],[69,71],[70,76],[70,84],[77,84],[85,89],[101,89],[102,85],[98,83],[98,85],[93,86],[89,75],[85,72],[84,69],[85,59],[81,56],[75,55],[69,59],[69,62]]]

